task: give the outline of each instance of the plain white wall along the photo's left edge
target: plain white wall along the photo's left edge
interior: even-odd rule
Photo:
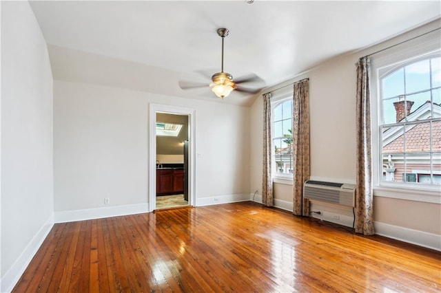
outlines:
[[[27,1],[1,3],[1,292],[53,225],[52,73]]]

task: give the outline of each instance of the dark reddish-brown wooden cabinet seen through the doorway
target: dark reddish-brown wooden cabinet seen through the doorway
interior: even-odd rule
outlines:
[[[156,194],[172,195],[184,192],[183,169],[157,169]]]

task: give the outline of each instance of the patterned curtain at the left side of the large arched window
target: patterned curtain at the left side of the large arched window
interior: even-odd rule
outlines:
[[[360,58],[357,65],[357,175],[355,230],[364,235],[373,230],[373,193],[371,158],[371,94],[369,58]]]

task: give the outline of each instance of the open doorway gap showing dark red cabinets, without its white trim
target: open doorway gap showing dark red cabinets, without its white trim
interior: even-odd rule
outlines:
[[[189,206],[188,120],[156,113],[156,210]]]

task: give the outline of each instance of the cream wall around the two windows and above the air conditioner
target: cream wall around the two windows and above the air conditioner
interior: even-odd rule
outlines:
[[[355,182],[356,180],[356,66],[362,56],[389,47],[413,36],[439,28],[440,21],[430,23],[385,43],[361,52],[345,54],[323,63],[287,83],[309,78],[311,177],[316,180]],[[261,191],[262,173],[262,99],[258,98],[251,111],[251,186]],[[275,203],[286,207],[291,186],[274,184]],[[292,199],[290,199],[292,204]],[[429,213],[427,213],[429,211]],[[351,213],[345,211],[345,213]],[[411,215],[411,216],[410,216]],[[413,202],[376,196],[374,220],[376,231],[382,235],[402,239],[441,250],[441,205]],[[427,239],[427,241],[426,241]],[[425,241],[425,242],[424,242]]]

